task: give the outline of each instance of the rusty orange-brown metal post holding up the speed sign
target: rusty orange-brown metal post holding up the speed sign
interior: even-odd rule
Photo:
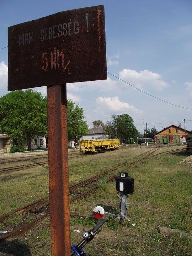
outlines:
[[[71,254],[66,84],[47,86],[51,251]]]

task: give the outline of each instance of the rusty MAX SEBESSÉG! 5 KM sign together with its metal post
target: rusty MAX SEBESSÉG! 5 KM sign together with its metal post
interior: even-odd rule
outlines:
[[[71,255],[66,83],[107,79],[104,6],[8,28],[8,91],[47,86],[52,256]]]

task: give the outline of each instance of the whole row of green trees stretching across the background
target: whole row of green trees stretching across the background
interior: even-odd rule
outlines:
[[[67,100],[68,139],[81,138],[88,134],[84,109]],[[119,138],[126,143],[129,138],[143,137],[128,114],[112,114],[106,124],[101,120],[93,121],[94,126],[102,126],[110,139]],[[6,133],[19,147],[27,143],[28,150],[34,136],[47,134],[47,97],[41,92],[28,90],[12,91],[0,98],[0,132]],[[146,131],[148,138],[154,138],[155,128]]]

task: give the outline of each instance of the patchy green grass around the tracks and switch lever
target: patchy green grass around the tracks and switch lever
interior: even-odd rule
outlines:
[[[143,152],[140,151],[143,149],[138,150],[121,149],[118,154],[111,152],[112,154],[98,154],[88,156],[85,159],[71,160],[70,182],[72,184],[84,180]],[[128,172],[135,180],[135,192],[128,198],[129,221],[118,222],[116,219],[107,218],[102,232],[90,242],[86,251],[93,256],[98,254],[102,256],[192,255],[190,239],[180,235],[164,237],[158,234],[159,225],[181,229],[192,234],[190,212],[192,168],[178,164],[185,157],[185,154],[173,153],[149,159],[148,162],[138,165],[137,168],[130,168]],[[14,174],[16,173],[14,172]],[[32,176],[37,174],[41,174],[41,176],[34,182]],[[3,205],[6,204],[9,209],[17,208],[22,202],[18,196],[18,191],[25,202],[27,200],[32,201],[31,195],[33,196],[34,188],[37,189],[34,194],[41,198],[43,194],[47,193],[45,190],[47,190],[48,185],[42,183],[45,180],[48,180],[47,171],[43,169],[39,173],[38,170],[30,171],[27,180],[22,180],[22,176],[14,176],[14,181],[19,184],[18,190],[14,191],[15,183],[12,183],[11,200],[8,193],[6,196],[2,196],[0,200],[5,200],[2,203]],[[11,183],[7,182],[2,182],[4,188],[7,184],[11,186]],[[116,196],[115,183],[106,183],[103,177],[97,184],[99,189],[82,200],[73,202],[70,206],[71,210],[92,212],[98,204],[118,208],[119,200]],[[27,186],[28,190],[26,190]],[[27,221],[30,218],[33,216],[25,215]],[[16,226],[22,221],[22,216],[14,216],[0,228],[6,228],[10,225]],[[96,220],[93,218],[71,217],[71,242],[77,244],[82,239],[82,232],[90,230],[95,223]],[[80,234],[74,233],[74,229],[79,229]],[[0,249],[0,255],[5,256],[7,253],[8,255],[49,256],[49,233],[49,219],[45,219],[31,231],[1,243],[0,248],[4,249]],[[8,247],[6,247],[7,243]],[[12,251],[18,251],[17,254],[13,254],[11,248]]]

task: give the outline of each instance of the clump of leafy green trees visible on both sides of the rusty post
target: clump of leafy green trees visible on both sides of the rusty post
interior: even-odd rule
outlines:
[[[79,105],[67,100],[68,138],[78,138],[88,133],[84,111]],[[77,128],[75,131],[75,127]],[[11,91],[0,98],[0,132],[6,133],[23,148],[28,150],[35,135],[47,134],[47,97],[41,92],[28,90]]]

